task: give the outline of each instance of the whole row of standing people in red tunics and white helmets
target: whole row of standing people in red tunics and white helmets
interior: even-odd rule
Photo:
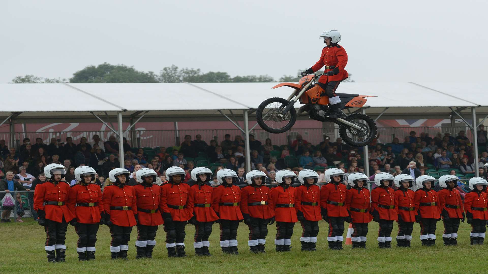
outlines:
[[[269,189],[264,186],[266,175],[260,171],[247,173],[249,186],[242,189],[233,185],[237,174],[229,169],[217,172],[221,184],[216,188],[208,185],[211,171],[204,167],[192,170],[197,183],[182,183],[183,169],[171,167],[166,171],[169,181],[161,186],[153,184],[156,173],[141,169],[136,173],[138,185],[125,183],[130,172],[114,169],[109,173],[113,185],[100,187],[90,183],[95,170],[81,166],[75,170],[79,182],[71,188],[62,180],[65,169],[59,164],[49,164],[44,173],[48,180],[36,189],[34,208],[39,214],[39,224],[46,231],[45,250],[48,261],[64,261],[64,245],[67,224],[75,227],[79,235],[77,252],[80,260],[95,259],[95,242],[99,224],[110,228],[112,258],[126,258],[132,227],[137,225],[137,258],[152,256],[156,245],[158,226],[163,224],[169,257],[185,256],[185,225],[195,225],[194,248],[197,255],[211,255],[208,237],[214,222],[220,223],[220,246],[224,253],[238,254],[237,228],[244,221],[249,227],[248,245],[253,253],[264,252],[267,225],[276,221],[276,251],[290,250],[293,227],[300,221],[303,233],[300,237],[303,251],[315,251],[318,221],[324,218],[329,225],[327,241],[332,250],[342,249],[344,222],[351,222],[353,248],[366,247],[367,224],[379,222],[378,245],[391,247],[393,221],[399,231],[397,246],[410,246],[413,222],[421,226],[423,245],[435,244],[436,222],[444,218],[444,244],[455,245],[459,222],[464,221],[463,204],[459,192],[454,189],[456,176],[446,175],[439,179],[443,187],[439,193],[432,190],[435,179],[419,176],[415,183],[419,190],[410,188],[414,182],[409,175],[396,177],[387,173],[375,176],[375,188],[371,196],[365,188],[367,176],[354,173],[348,177],[350,189],[341,182],[344,172],[331,168],[325,172],[328,182],[321,189],[316,185],[318,174],[302,170],[299,187],[290,186],[297,176],[288,170],[276,175],[279,185]],[[393,191],[392,184],[399,187]],[[486,231],[487,181],[471,178],[472,192],[465,197],[468,223],[473,229],[471,244],[483,244]],[[371,202],[370,202],[371,200]]]

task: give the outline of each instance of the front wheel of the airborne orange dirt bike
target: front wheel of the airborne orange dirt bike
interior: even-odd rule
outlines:
[[[297,119],[295,108],[283,115],[288,105],[284,98],[274,97],[264,100],[256,110],[256,120],[261,128],[269,133],[284,133],[291,129]]]

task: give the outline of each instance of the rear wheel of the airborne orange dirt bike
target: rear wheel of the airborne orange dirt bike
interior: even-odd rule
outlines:
[[[345,119],[364,129],[364,131],[361,131],[346,125],[339,125],[339,135],[346,144],[362,147],[368,145],[376,137],[376,123],[371,117],[361,113],[354,113]]]

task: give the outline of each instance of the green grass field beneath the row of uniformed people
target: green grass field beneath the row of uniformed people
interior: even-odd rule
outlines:
[[[391,249],[380,250],[376,238],[378,224],[369,224],[367,249],[351,249],[345,245],[342,251],[327,249],[327,224],[320,221],[317,252],[300,251],[300,224],[295,225],[292,251],[277,253],[274,250],[275,225],[269,226],[265,254],[250,254],[247,246],[248,229],[241,223],[238,231],[239,255],[223,255],[219,247],[219,225],[214,224],[210,237],[212,257],[194,255],[193,234],[195,228],[186,226],[186,258],[168,258],[164,243],[163,226],[156,237],[152,259],[135,259],[137,231],[132,230],[129,242],[129,260],[110,260],[110,234],[107,226],[101,226],[97,241],[97,260],[78,261],[76,241],[78,236],[68,225],[66,235],[66,262],[49,264],[44,253],[45,233],[31,218],[24,223],[2,223],[1,273],[481,273],[485,272],[488,246],[470,246],[470,225],[461,223],[458,246],[445,247],[442,243],[442,221],[437,223],[437,245],[422,247],[419,225],[414,225],[412,247],[397,248],[395,224]],[[347,223],[346,227],[347,227]],[[344,237],[346,238],[346,231]]]

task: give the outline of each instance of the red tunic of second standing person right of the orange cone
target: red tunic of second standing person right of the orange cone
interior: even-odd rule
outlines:
[[[382,206],[390,206],[384,208]],[[380,219],[396,221],[398,212],[395,207],[395,193],[391,187],[377,187],[371,191],[371,211],[378,211]]]

